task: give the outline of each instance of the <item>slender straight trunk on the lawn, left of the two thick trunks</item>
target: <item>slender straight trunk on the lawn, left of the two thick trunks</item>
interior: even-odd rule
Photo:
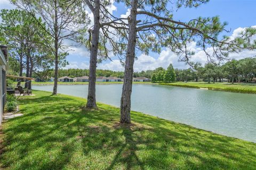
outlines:
[[[55,50],[55,69],[54,69],[54,85],[53,85],[53,91],[52,95],[57,95],[57,86],[58,86],[58,68],[59,68],[59,52],[58,52],[58,14],[57,14],[57,1],[54,1],[54,6],[55,6],[55,22],[54,22],[54,50]]]

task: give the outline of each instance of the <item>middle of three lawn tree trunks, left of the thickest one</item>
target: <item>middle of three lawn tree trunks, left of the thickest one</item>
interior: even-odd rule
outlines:
[[[92,31],[92,45],[90,54],[90,71],[89,71],[89,86],[87,96],[87,108],[97,108],[96,105],[96,67],[97,67],[97,55],[99,46],[99,34],[100,34],[100,0],[95,1],[95,8],[93,11],[93,31]]]

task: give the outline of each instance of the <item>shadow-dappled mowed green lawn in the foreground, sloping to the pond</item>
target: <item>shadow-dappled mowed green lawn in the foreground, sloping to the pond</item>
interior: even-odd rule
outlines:
[[[255,169],[256,143],[119,109],[83,98],[34,91],[22,97],[24,115],[3,123],[7,169]],[[1,168],[0,168],[1,169]]]

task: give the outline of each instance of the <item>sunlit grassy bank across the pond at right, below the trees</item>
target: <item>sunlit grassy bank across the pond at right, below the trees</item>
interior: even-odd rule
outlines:
[[[238,83],[206,83],[206,82],[174,82],[174,83],[159,83],[167,86],[177,86],[186,88],[206,88],[209,90],[239,92],[244,94],[256,94],[256,86]]]

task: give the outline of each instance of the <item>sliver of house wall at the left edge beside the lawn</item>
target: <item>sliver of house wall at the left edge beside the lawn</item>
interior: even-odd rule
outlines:
[[[8,69],[7,46],[0,46],[0,125],[3,121],[4,105],[6,101],[6,71]]]

